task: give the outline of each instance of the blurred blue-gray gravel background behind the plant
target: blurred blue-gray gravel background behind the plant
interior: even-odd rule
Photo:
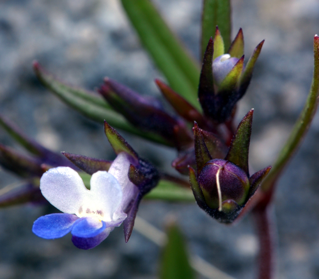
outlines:
[[[155,0],[171,27],[198,57],[199,0]],[[266,39],[239,119],[255,108],[251,169],[276,158],[303,107],[313,71],[317,0],[234,0],[234,35],[243,28],[245,53]],[[33,59],[70,84],[93,89],[109,76],[158,95],[160,73],[141,49],[117,0],[0,0],[0,112],[55,151],[114,158],[102,124],[85,119],[43,88]],[[122,133],[141,156],[170,170],[175,152]],[[278,278],[319,278],[319,115],[280,180],[275,197]],[[0,142],[15,144],[0,131]],[[15,146],[16,147],[16,146]],[[172,171],[172,170],[170,170]],[[0,170],[0,187],[16,181]],[[32,234],[44,207],[0,211],[0,279],[153,279],[159,248],[136,231],[125,244],[122,227],[91,251],[68,235],[47,241]],[[258,243],[251,218],[237,226],[211,220],[195,204],[144,201],[138,215],[160,229],[174,215],[189,249],[238,279],[252,279]]]

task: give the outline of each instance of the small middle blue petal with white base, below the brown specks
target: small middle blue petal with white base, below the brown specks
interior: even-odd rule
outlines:
[[[96,217],[82,217],[74,224],[71,233],[77,237],[94,237],[106,229],[106,223]]]

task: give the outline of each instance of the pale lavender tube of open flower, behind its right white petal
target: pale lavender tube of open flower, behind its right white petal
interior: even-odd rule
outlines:
[[[121,209],[125,210],[131,200],[137,195],[138,189],[137,187],[129,180],[128,173],[130,168],[130,160],[129,155],[125,152],[121,152],[117,155],[111,167],[108,170],[108,173],[114,175],[117,181],[120,183],[123,199]]]

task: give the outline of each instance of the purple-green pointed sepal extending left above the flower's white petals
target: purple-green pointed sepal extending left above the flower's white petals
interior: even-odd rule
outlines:
[[[83,155],[71,154],[67,152],[61,152],[66,158],[68,158],[75,166],[88,174],[93,174],[99,170],[108,170],[112,164],[112,161],[106,161],[102,159],[95,159],[86,157]]]

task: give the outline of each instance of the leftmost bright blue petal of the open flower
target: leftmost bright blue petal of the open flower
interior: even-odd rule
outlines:
[[[78,216],[68,213],[54,213],[38,218],[32,227],[32,231],[45,239],[59,238],[72,230]]]

